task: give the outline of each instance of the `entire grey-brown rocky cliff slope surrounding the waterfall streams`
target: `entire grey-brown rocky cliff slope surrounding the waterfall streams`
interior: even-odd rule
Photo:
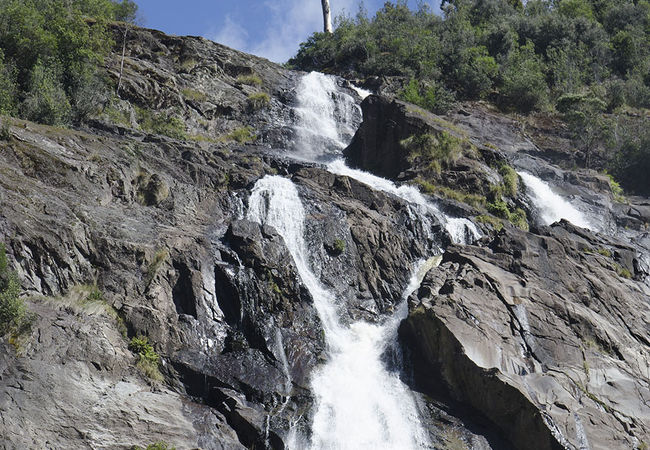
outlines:
[[[143,29],[126,49],[120,98],[87,128],[11,120],[0,141],[0,239],[35,314],[0,350],[3,448],[284,448],[290,428],[309,435],[310,375],[327,355],[282,238],[246,220],[266,174],[297,185],[313,266],[346,320],[380,320],[411,264],[447,247],[401,328],[435,448],[650,442],[647,200],[617,204],[601,176],[538,159],[516,121],[481,105],[441,118],[371,96],[350,163],[486,196],[509,164],[579,196],[603,230],[628,228],[536,226],[519,184],[507,202],[531,232],[505,221],[449,246],[432,217],[428,243],[403,200],[283,156],[299,73]],[[106,67],[116,84],[120,53]],[[439,173],[404,153],[405,139],[442,131],[463,151]],[[160,354],[160,379],[128,349],[138,335]]]

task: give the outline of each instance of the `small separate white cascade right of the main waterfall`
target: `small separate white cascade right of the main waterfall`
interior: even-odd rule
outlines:
[[[594,230],[595,227],[571,203],[553,192],[551,187],[527,172],[517,172],[526,185],[528,197],[537,208],[539,218],[544,225],[550,225],[560,219],[566,219],[572,224]]]

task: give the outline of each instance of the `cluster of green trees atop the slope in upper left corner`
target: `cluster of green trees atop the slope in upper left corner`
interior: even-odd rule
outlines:
[[[104,88],[107,24],[135,18],[130,0],[0,2],[0,113],[46,124],[83,120]],[[92,20],[91,20],[92,19]]]

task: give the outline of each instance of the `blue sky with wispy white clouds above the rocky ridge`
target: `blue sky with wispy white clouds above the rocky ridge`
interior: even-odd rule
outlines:
[[[135,0],[142,25],[168,34],[203,36],[229,47],[284,62],[312,32],[321,31],[318,0]],[[332,15],[356,14],[360,0],[330,0]],[[369,15],[384,0],[365,0]],[[415,8],[417,0],[409,0]],[[424,1],[438,11],[440,0]]]

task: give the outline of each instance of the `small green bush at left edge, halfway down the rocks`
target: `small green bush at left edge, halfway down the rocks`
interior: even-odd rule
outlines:
[[[17,333],[29,325],[27,307],[20,298],[20,281],[9,269],[4,244],[0,243],[0,336]]]

